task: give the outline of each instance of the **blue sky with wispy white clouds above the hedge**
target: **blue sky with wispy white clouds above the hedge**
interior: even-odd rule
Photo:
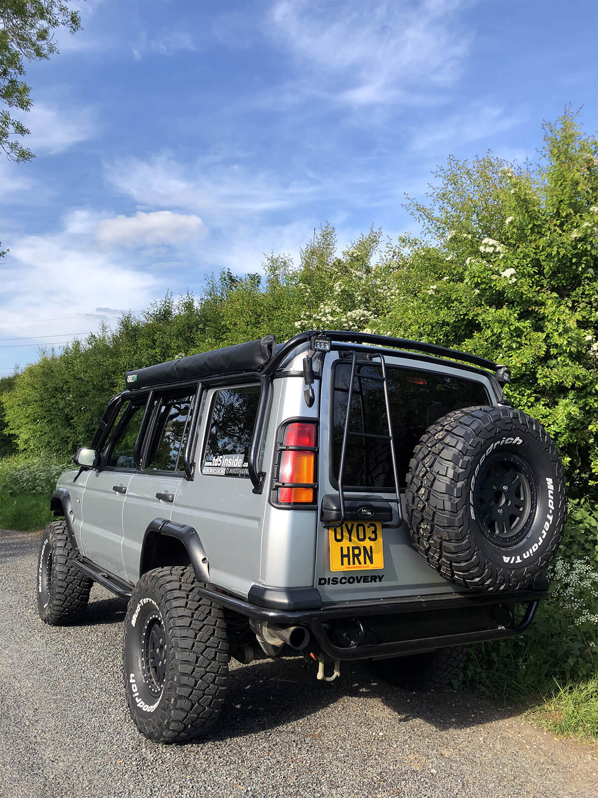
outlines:
[[[541,122],[598,128],[597,0],[89,0],[29,65],[30,164],[0,160],[0,374],[202,289],[413,227],[450,153],[521,160]],[[43,337],[42,337],[43,336]]]

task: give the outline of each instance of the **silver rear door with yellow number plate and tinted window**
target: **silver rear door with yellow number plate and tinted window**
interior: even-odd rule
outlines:
[[[405,476],[419,438],[450,410],[494,403],[490,381],[482,374],[435,363],[386,357],[392,431],[404,500]],[[336,353],[325,359],[321,395],[320,497],[338,496],[340,451],[347,419],[351,362]],[[368,378],[370,377],[370,378]],[[397,526],[396,504],[388,501],[391,520],[369,516],[394,500],[391,448],[380,361],[358,355],[348,417],[344,499],[352,504],[347,524],[330,530],[318,520],[315,586],[324,601],[425,595],[454,591],[411,546],[407,524]]]

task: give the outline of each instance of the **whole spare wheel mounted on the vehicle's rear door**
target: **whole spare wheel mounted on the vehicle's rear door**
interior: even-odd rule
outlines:
[[[557,448],[506,406],[448,413],[409,464],[406,516],[415,547],[451,582],[484,591],[533,587],[565,524]]]

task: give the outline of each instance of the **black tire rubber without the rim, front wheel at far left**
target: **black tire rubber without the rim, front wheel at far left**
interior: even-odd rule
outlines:
[[[89,602],[92,579],[73,567],[75,555],[67,531],[66,521],[53,521],[45,527],[40,543],[40,554],[45,537],[49,539],[52,554],[52,583],[49,603],[45,610],[40,609],[40,618],[50,626],[66,626],[81,620]],[[37,559],[37,575],[40,562]],[[37,579],[36,579],[37,583]]]

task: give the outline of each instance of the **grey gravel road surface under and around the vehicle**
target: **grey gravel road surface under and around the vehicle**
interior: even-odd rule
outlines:
[[[468,694],[377,683],[364,666],[321,684],[302,660],[232,663],[207,741],[151,743],[121,686],[124,602],[94,586],[85,626],[45,626],[38,540],[0,531],[2,798],[598,795],[595,748]]]

